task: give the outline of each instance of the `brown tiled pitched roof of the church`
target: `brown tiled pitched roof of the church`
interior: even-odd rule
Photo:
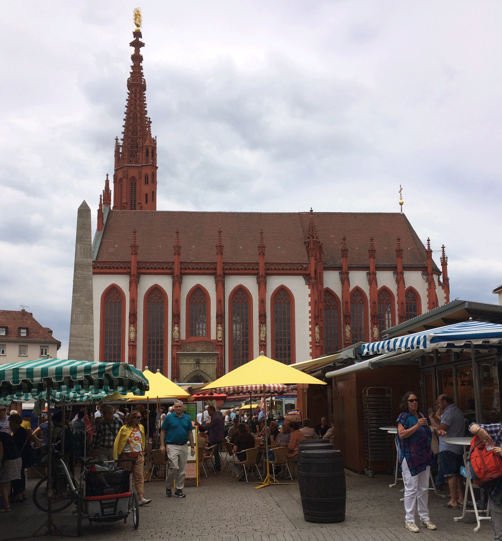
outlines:
[[[138,261],[173,261],[175,232],[179,230],[182,262],[213,262],[217,232],[221,229],[223,261],[252,263],[258,261],[262,229],[267,262],[307,263],[304,241],[311,217],[323,245],[325,268],[341,268],[340,246],[344,236],[349,248],[349,268],[368,267],[371,237],[377,250],[377,268],[396,267],[397,237],[401,239],[404,268],[427,268],[425,247],[401,213],[113,210],[108,214],[96,261],[130,261],[130,244],[136,229]],[[434,263],[433,270],[439,272]]]

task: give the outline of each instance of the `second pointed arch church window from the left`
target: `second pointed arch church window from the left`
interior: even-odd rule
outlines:
[[[150,372],[164,373],[164,295],[158,287],[152,289],[147,299],[147,355]]]

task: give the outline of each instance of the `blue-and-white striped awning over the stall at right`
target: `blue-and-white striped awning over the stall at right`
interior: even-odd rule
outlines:
[[[363,344],[362,355],[390,353],[393,351],[414,351],[424,349],[465,349],[473,345],[487,349],[502,343],[502,325],[480,321],[463,321],[454,325],[437,327],[420,333]]]

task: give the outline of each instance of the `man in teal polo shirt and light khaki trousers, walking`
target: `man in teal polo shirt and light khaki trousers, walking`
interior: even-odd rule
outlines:
[[[176,400],[174,414],[166,415],[160,431],[160,450],[167,451],[169,471],[166,481],[166,496],[172,496],[174,478],[176,478],[176,498],[184,498],[185,472],[187,469],[188,447],[190,441],[191,456],[195,454],[193,426],[190,417],[183,413],[183,403]]]

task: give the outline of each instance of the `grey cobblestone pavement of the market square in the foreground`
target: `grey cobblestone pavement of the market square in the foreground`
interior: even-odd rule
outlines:
[[[255,484],[231,481],[230,468],[217,476],[202,477],[199,487],[195,480],[187,480],[186,498],[167,498],[163,481],[145,484],[145,496],[151,504],[140,507],[140,527],[133,529],[128,523],[93,524],[84,520],[83,541],[127,538],[133,541],[163,539],[179,541],[396,541],[422,539],[436,541],[486,541],[493,539],[491,522],[481,522],[474,533],[473,515],[465,521],[454,522],[461,513],[441,509],[444,499],[433,492],[429,498],[431,520],[437,531],[420,529],[420,533],[404,529],[404,506],[398,484],[389,488],[389,476],[368,478],[346,471],[346,520],[337,524],[305,522],[297,484],[269,486],[254,490]],[[296,479],[295,479],[296,480]],[[27,494],[37,481],[27,480]],[[46,516],[33,504],[31,498],[13,504],[11,513],[0,514],[0,538],[31,538],[44,524]],[[63,536],[75,536],[76,519],[71,508],[57,513],[54,519]],[[418,522],[417,522],[418,523]],[[42,527],[40,533],[47,531]],[[47,535],[42,540],[54,539]]]

